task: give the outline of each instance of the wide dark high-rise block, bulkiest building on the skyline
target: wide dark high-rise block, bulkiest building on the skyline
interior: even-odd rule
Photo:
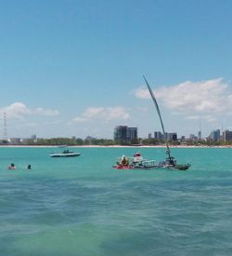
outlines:
[[[114,128],[114,141],[130,142],[137,140],[137,128],[118,126]]]

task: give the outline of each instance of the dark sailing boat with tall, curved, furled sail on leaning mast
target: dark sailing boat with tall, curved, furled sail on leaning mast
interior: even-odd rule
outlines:
[[[164,126],[163,126],[163,122],[162,122],[162,119],[161,119],[161,112],[160,112],[160,108],[159,108],[159,105],[156,101],[156,98],[155,98],[155,95],[152,91],[152,89],[149,87],[148,85],[148,81],[147,79],[145,78],[145,76],[143,75],[144,77],[144,80],[146,82],[146,85],[148,87],[148,91],[149,91],[149,94],[155,104],[155,107],[156,107],[156,110],[157,110],[157,113],[159,115],[159,118],[160,118],[160,121],[161,121],[161,129],[162,129],[162,133],[163,133],[163,138],[165,140],[165,144],[166,144],[166,154],[167,154],[167,158],[165,161],[163,161],[162,163],[160,163],[159,165],[160,166],[163,166],[164,168],[175,168],[175,169],[180,169],[180,170],[185,170],[187,168],[189,168],[191,165],[190,164],[186,164],[186,165],[178,165],[176,160],[174,159],[174,156],[171,156],[171,150],[170,150],[170,147],[169,147],[169,144],[168,144],[168,140],[165,136],[165,130],[164,130]]]

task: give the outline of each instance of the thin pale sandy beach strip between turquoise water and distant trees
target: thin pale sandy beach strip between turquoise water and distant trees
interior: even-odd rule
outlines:
[[[0,145],[0,148],[58,148],[60,145]],[[72,148],[165,148],[165,145],[141,145],[141,146],[127,146],[127,145],[71,145],[67,147]],[[208,145],[169,145],[170,148],[232,148],[232,145],[226,146],[208,146]]]

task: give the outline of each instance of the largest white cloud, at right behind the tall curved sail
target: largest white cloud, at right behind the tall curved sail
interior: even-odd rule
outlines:
[[[213,119],[212,114],[229,111],[232,103],[232,94],[222,78],[201,82],[187,81],[173,87],[158,88],[154,90],[154,94],[173,112],[195,117],[205,115],[209,120]],[[135,96],[140,99],[150,97],[147,88],[136,89]],[[191,116],[189,119],[193,119]]]

